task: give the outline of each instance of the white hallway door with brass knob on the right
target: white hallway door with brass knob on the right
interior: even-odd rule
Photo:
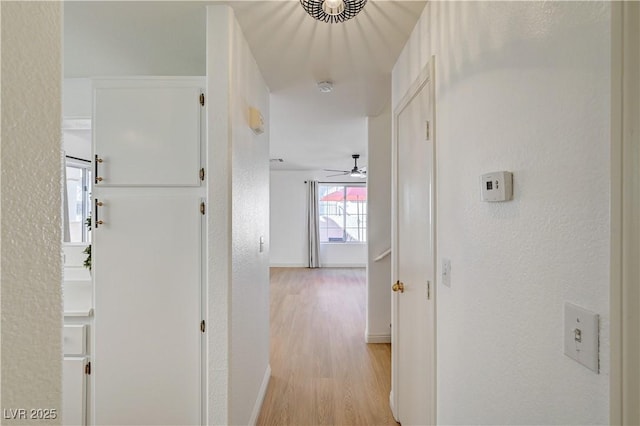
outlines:
[[[403,425],[435,423],[434,148],[427,79],[396,114],[393,401]]]

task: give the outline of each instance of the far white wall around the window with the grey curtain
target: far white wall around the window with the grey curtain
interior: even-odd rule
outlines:
[[[307,267],[307,185],[305,181],[356,182],[327,178],[322,170],[271,170],[271,266]],[[364,267],[367,244],[321,244],[322,267]]]

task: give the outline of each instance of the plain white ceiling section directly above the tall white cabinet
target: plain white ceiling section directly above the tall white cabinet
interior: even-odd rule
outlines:
[[[204,75],[205,7],[199,1],[65,2],[64,76]]]

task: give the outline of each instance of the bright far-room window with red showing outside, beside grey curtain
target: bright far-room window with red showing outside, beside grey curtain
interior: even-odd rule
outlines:
[[[318,188],[321,243],[367,241],[367,187],[321,184]]]

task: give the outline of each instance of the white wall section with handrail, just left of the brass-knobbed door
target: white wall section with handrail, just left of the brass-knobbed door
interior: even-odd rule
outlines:
[[[391,247],[391,106],[367,118],[367,342],[391,341],[391,256],[375,258]]]

